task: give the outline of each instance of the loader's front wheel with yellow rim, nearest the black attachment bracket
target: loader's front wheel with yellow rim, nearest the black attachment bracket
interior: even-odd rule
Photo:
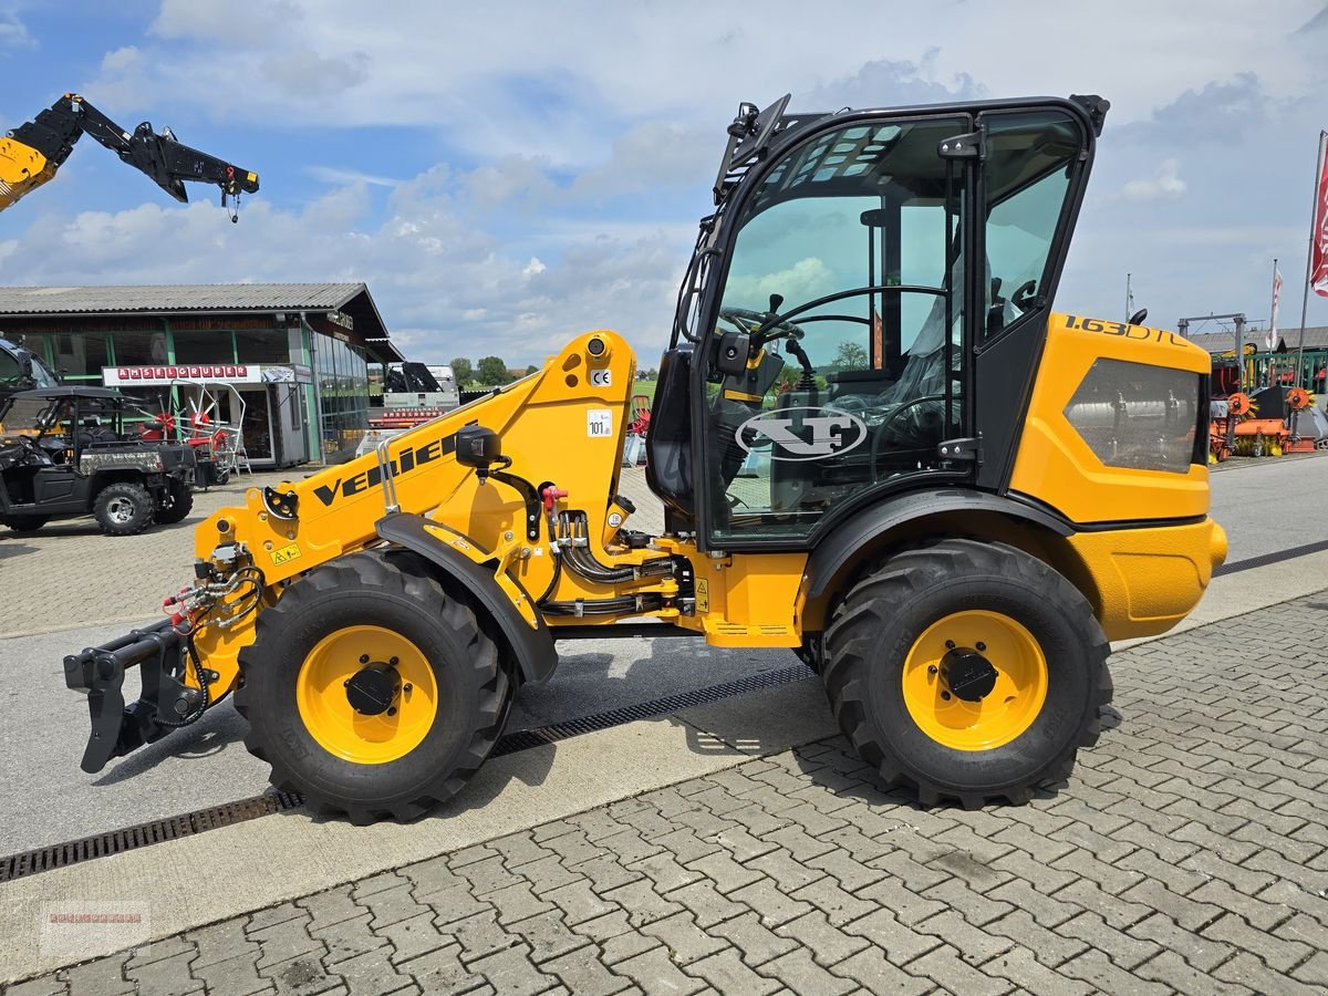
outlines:
[[[235,693],[244,745],[316,811],[414,819],[461,790],[507,721],[513,684],[497,647],[412,554],[319,567],[256,628]],[[348,683],[365,668],[394,680],[392,713],[352,708]]]

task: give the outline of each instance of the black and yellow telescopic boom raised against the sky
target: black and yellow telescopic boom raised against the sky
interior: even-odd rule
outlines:
[[[158,134],[145,121],[126,131],[78,94],[66,93],[0,138],[0,211],[54,177],[84,134],[182,203],[189,201],[185,181],[220,187],[223,206],[258,191],[258,174],[183,145],[169,127]]]

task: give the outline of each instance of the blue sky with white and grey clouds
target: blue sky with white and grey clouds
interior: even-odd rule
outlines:
[[[0,122],[80,92],[259,174],[238,224],[90,141],[0,215],[7,286],[364,282],[410,359],[653,367],[740,101],[1112,101],[1056,307],[1297,327],[1324,0],[0,0]],[[1311,295],[1308,324],[1328,324]],[[1191,324],[1191,331],[1216,325]]]

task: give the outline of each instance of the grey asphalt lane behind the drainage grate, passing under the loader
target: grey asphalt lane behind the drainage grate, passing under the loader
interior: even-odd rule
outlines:
[[[1228,563],[1328,537],[1325,491],[1328,461],[1317,456],[1214,474],[1212,507],[1231,540]],[[0,568],[5,584],[11,576],[19,580],[11,575],[15,566]],[[1293,562],[1287,570],[1295,570]],[[114,578],[105,583],[116,586]],[[82,618],[105,618],[94,591],[86,592],[86,603]],[[60,661],[126,628],[122,623],[0,640],[0,675],[9,679],[0,683],[0,742],[11,758],[0,854],[230,802],[267,788],[267,766],[244,750],[243,721],[228,703],[100,774],[80,770],[88,717],[82,701],[65,689]],[[788,651],[718,651],[692,639],[584,640],[563,644],[560,653],[558,675],[546,687],[522,691],[509,732],[776,671],[795,660]]]

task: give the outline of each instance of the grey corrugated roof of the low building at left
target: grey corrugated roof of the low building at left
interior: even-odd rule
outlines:
[[[363,283],[139,284],[131,287],[0,287],[0,319],[93,315],[226,315],[340,311],[371,349],[402,359]]]

